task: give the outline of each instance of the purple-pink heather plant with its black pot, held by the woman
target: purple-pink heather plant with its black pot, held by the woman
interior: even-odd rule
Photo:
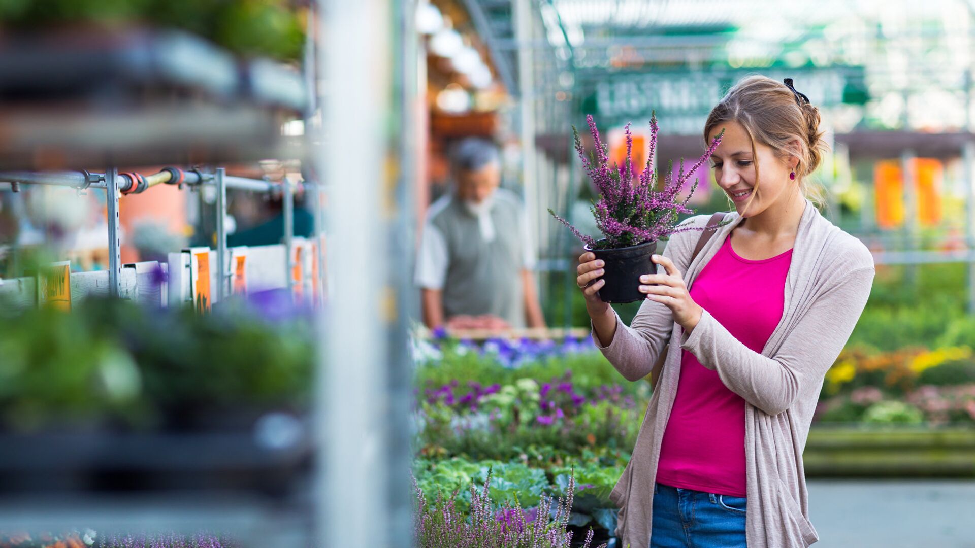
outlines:
[[[721,144],[724,132],[715,137],[704,155],[689,171],[683,171],[683,158],[677,177],[673,176],[674,163],[669,162],[667,176],[663,187],[660,188],[658,173],[653,166],[653,151],[657,143],[656,112],[650,115],[650,142],[646,166],[635,176],[632,165],[633,134],[630,124],[624,130],[626,135],[626,161],[624,165],[609,165],[608,146],[600,139],[599,130],[592,115],[586,116],[589,131],[596,145],[595,154],[588,156],[579,139],[579,133],[572,127],[575,140],[575,150],[582,159],[582,166],[592,177],[599,190],[600,199],[590,211],[596,217],[596,226],[604,234],[604,238],[597,240],[586,236],[572,226],[565,218],[555,215],[551,209],[549,213],[565,224],[572,234],[582,240],[586,251],[593,252],[597,258],[605,262],[603,279],[605,284],[599,291],[600,298],[605,302],[634,302],[641,300],[640,276],[656,272],[656,265],[650,257],[656,253],[657,241],[673,234],[688,230],[702,230],[703,227],[680,227],[677,221],[679,214],[692,214],[687,209],[687,201],[697,189],[698,179],[694,179],[687,196],[680,200],[678,193],[691,174],[714,154]],[[728,221],[725,221],[725,223]],[[722,223],[723,224],[723,223]]]

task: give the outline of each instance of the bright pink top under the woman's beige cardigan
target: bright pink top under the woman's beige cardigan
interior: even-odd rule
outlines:
[[[745,346],[761,352],[782,319],[792,250],[762,260],[738,256],[725,238],[690,288],[694,302]],[[726,364],[734,367],[734,364]],[[745,400],[718,372],[683,350],[681,379],[664,431],[657,483],[731,496],[745,489]]]

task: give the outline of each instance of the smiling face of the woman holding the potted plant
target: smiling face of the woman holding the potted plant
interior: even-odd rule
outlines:
[[[800,192],[798,181],[789,178],[796,158],[780,158],[761,142],[755,143],[753,154],[752,139],[745,128],[734,121],[722,122],[712,128],[709,142],[718,137],[722,128],[724,137],[711,156],[710,164],[715,169],[718,186],[734,203],[738,214],[743,217],[759,215],[776,204],[793,200],[794,194]]]

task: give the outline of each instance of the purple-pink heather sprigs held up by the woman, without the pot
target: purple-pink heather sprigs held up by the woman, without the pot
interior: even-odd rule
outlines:
[[[600,132],[596,128],[592,115],[586,116],[586,122],[589,124],[589,132],[596,144],[595,154],[586,154],[574,126],[572,127],[572,136],[575,141],[575,150],[582,160],[582,166],[586,173],[592,177],[600,193],[600,199],[593,204],[590,211],[596,217],[596,226],[603,232],[605,238],[596,240],[591,236],[582,234],[565,218],[556,215],[551,209],[549,214],[565,224],[572,231],[572,234],[593,250],[627,248],[644,242],[654,242],[679,232],[703,229],[703,227],[686,226],[678,228],[676,226],[678,215],[694,213],[686,206],[690,196],[697,189],[698,179],[694,179],[690,191],[683,200],[678,198],[678,193],[691,174],[714,154],[718,145],[721,144],[724,135],[723,130],[711,142],[704,155],[686,173],[683,171],[683,158],[677,177],[673,176],[673,162],[669,162],[663,188],[659,188],[658,173],[652,163],[658,130],[655,111],[650,116],[650,143],[646,166],[636,177],[634,177],[636,169],[632,163],[633,134],[630,132],[630,124],[627,124],[624,129],[626,161],[622,166],[617,166],[615,163],[610,165],[608,145],[600,138]]]

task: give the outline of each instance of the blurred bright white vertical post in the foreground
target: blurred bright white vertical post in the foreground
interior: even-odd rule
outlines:
[[[310,155],[330,191],[333,286],[316,379],[316,544],[386,547],[389,328],[381,311],[388,294],[388,211],[380,188],[390,154],[393,19],[382,0],[319,2],[324,124]]]

